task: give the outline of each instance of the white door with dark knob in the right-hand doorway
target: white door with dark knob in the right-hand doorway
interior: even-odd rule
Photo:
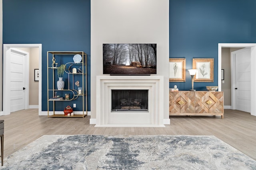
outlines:
[[[250,112],[251,108],[251,49],[245,48],[236,53],[236,109]]]

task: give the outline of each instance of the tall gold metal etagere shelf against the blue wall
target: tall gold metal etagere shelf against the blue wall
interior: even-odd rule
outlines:
[[[81,61],[79,62],[67,62],[62,63],[62,57],[69,57],[70,60],[73,60],[74,55],[80,55],[82,57]],[[72,56],[72,57],[71,57]],[[84,117],[87,115],[87,55],[83,51],[48,51],[47,52],[47,112],[48,117]],[[68,83],[67,89],[55,89],[54,87],[58,76],[56,76],[56,71],[58,66],[61,64],[64,64],[64,74],[68,75],[68,81],[65,81],[65,83]],[[74,68],[76,70],[77,66],[80,66],[78,68],[78,72],[74,72]],[[82,67],[82,68],[81,68]],[[82,92],[79,93],[79,90],[76,90],[76,82],[74,80],[74,76],[82,76]],[[50,80],[49,79],[50,76]],[[71,84],[71,83],[72,84]],[[80,85],[79,85],[80,86]],[[72,95],[72,98],[69,99],[55,99],[56,92],[58,91],[65,91],[70,92]],[[63,96],[62,96],[63,97]],[[54,98],[54,99],[53,99]],[[82,99],[81,99],[82,98]],[[82,100],[82,111],[74,111],[74,115],[72,116],[66,116],[64,115],[63,111],[55,111],[56,104],[63,105],[62,102],[66,101],[72,101],[72,100]],[[50,109],[50,102],[52,102],[52,108]],[[63,114],[62,114],[63,113]]]

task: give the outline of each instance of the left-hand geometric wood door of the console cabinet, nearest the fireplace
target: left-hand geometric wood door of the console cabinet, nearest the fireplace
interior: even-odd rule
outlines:
[[[190,91],[169,91],[169,115],[195,113],[195,93]]]

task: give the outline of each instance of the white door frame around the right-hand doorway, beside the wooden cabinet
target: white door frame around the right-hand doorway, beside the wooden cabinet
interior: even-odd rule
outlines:
[[[253,65],[256,65],[256,43],[218,43],[218,89],[221,91],[221,52],[222,47],[250,47],[251,48],[251,72],[256,72],[256,68]],[[235,86],[232,82],[232,88]],[[256,89],[252,88],[256,86],[256,74],[251,74],[251,115],[256,116]],[[232,91],[232,90],[231,90]],[[233,95],[233,94],[232,94]],[[231,96],[233,98],[233,96]],[[231,109],[233,109],[234,104],[231,102]]]

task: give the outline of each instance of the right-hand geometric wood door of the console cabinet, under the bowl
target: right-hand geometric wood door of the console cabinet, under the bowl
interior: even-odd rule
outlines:
[[[196,92],[196,113],[209,113],[209,115],[221,115],[223,119],[223,92]],[[216,114],[219,113],[219,114]]]

